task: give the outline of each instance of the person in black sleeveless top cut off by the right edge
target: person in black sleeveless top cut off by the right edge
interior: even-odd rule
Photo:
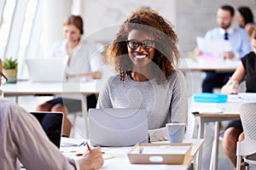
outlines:
[[[241,59],[236,71],[230,77],[223,88],[222,94],[237,94],[239,93],[239,83],[245,78],[247,93],[256,93],[256,29],[253,31],[252,38],[253,52],[247,54]],[[224,132],[223,149],[226,156],[236,167],[236,142],[243,139],[243,129],[241,120],[230,122]]]

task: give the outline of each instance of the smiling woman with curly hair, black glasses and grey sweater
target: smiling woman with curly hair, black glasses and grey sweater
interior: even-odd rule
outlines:
[[[146,108],[151,141],[166,140],[166,122],[187,122],[186,83],[173,26],[155,10],[137,9],[108,48],[119,75],[109,77],[97,108]]]

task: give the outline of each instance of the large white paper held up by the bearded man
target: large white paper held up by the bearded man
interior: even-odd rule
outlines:
[[[209,40],[204,37],[196,37],[197,48],[199,48],[203,54],[212,54],[216,56],[223,56],[225,52],[231,52],[231,44],[225,40]]]

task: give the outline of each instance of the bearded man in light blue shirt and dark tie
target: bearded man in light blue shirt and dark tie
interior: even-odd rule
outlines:
[[[230,42],[230,49],[224,51],[224,59],[239,60],[242,56],[251,51],[250,37],[247,31],[232,26],[235,9],[230,5],[223,5],[217,11],[218,27],[207,31],[206,38],[209,40],[226,40]],[[201,50],[195,48],[195,54],[201,55]],[[212,93],[213,88],[221,88],[229,77],[231,72],[207,71],[207,76],[202,82],[202,92]]]

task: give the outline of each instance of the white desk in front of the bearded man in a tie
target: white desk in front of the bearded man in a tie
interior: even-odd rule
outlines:
[[[178,68],[181,71],[235,71],[239,62],[230,59],[182,58]]]

